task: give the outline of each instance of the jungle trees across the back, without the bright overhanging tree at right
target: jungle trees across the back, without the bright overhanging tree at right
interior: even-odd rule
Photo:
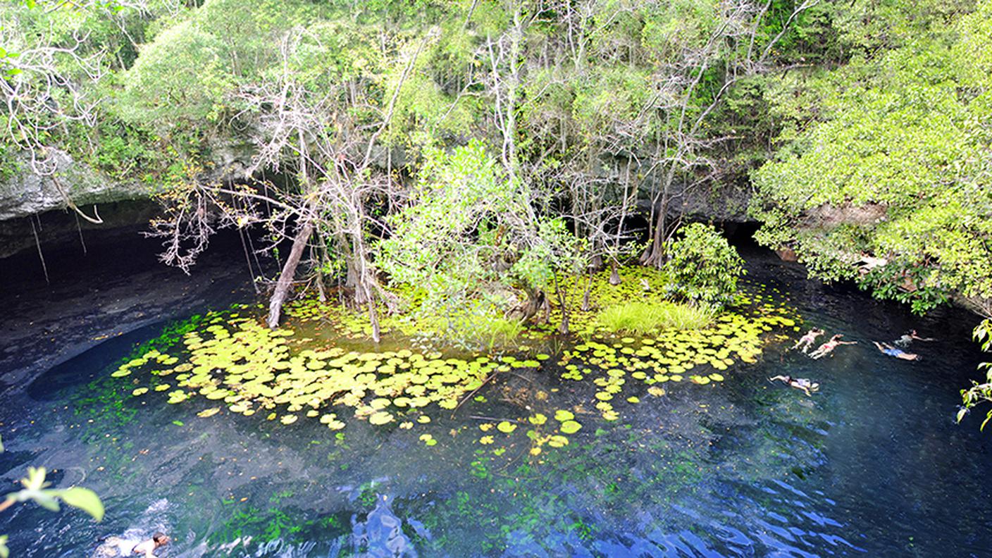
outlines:
[[[559,276],[663,267],[682,198],[763,159],[765,76],[832,33],[817,6],[7,1],[5,123],[53,181],[64,151],[148,184],[168,263],[264,235],[273,327],[298,268],[373,324],[404,296],[527,320]]]

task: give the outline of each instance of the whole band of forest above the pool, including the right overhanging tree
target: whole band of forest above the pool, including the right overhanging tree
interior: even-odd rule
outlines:
[[[988,317],[990,21],[986,0],[7,0],[0,176],[56,180],[67,153],[140,181],[184,268],[219,227],[261,231],[273,326],[302,275],[373,323],[410,297],[527,320],[559,274],[664,268],[686,198],[740,190],[810,275]]]

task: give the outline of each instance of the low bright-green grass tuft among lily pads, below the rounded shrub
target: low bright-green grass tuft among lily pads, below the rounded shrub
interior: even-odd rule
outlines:
[[[713,313],[674,302],[629,302],[603,310],[596,320],[611,332],[644,335],[664,328],[697,330],[713,321]]]

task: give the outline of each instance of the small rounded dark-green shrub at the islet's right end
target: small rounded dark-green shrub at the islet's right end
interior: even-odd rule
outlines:
[[[744,260],[712,225],[682,227],[682,238],[668,246],[665,264],[673,290],[692,303],[720,309],[734,301]]]

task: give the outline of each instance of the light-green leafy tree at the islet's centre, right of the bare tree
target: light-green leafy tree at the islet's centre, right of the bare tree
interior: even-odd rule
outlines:
[[[451,153],[429,150],[410,206],[391,218],[378,265],[420,293],[430,312],[481,302],[526,321],[557,272],[581,269],[575,238],[533,204],[533,192],[510,179],[481,142]]]

